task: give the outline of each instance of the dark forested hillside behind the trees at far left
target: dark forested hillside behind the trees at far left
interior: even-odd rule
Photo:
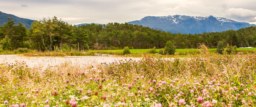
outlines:
[[[7,14],[0,11],[0,26],[3,26],[8,22],[8,17],[15,20],[14,21],[15,25],[18,25],[19,22],[21,22],[22,25],[24,25],[27,29],[29,29],[31,27],[31,23],[35,21],[35,20],[26,19],[26,18],[19,18],[13,14]]]

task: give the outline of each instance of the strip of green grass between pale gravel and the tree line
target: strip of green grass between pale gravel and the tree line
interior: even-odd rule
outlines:
[[[46,52],[37,52],[36,50],[30,50],[26,48],[20,48],[13,51],[4,51],[0,50],[0,54],[23,54],[24,56],[94,56],[94,53],[97,54],[111,54],[116,55],[116,57],[144,57],[146,56],[155,56],[158,57],[160,54],[152,54],[149,53],[151,49],[129,49],[131,52],[130,55],[123,55],[123,49],[119,50],[84,50],[84,51],[68,51],[62,52],[59,49],[56,51],[46,51]],[[165,55],[166,57],[174,57],[179,55],[180,57],[187,57],[188,55],[196,55],[200,54],[200,51],[203,49],[176,49],[175,55]],[[208,49],[210,53],[216,53],[216,49]],[[253,53],[256,51],[256,48],[237,48],[238,53],[247,54]],[[156,52],[163,51],[163,49],[156,49]]]

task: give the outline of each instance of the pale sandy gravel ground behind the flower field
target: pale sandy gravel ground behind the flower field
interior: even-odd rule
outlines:
[[[140,60],[141,58],[132,57],[113,57],[113,56],[65,56],[65,57],[53,57],[53,56],[41,56],[41,57],[27,57],[17,54],[12,55],[0,55],[0,63],[15,63],[23,62],[29,67],[40,67],[47,68],[51,66],[56,66],[64,62],[71,62],[72,64],[80,65],[98,65],[103,62],[111,63],[124,59]]]

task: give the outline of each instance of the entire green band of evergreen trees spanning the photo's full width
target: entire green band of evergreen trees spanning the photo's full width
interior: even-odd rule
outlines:
[[[220,41],[231,47],[256,47],[256,27],[253,26],[237,31],[181,34],[128,23],[72,26],[57,17],[35,21],[28,30],[21,23],[14,25],[14,20],[8,20],[7,24],[0,26],[0,45],[4,50],[28,48],[53,51],[61,46],[65,50],[123,49],[126,46],[130,49],[159,49],[164,48],[169,40],[177,49],[197,48],[199,43],[216,48]]]

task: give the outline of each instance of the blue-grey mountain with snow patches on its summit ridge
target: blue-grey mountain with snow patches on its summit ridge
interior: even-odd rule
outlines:
[[[202,33],[202,32],[221,32],[226,30],[238,30],[255,24],[246,22],[236,22],[234,20],[214,17],[214,16],[147,16],[141,20],[128,22],[130,24],[138,24],[144,27],[160,29],[162,31],[172,33]]]

